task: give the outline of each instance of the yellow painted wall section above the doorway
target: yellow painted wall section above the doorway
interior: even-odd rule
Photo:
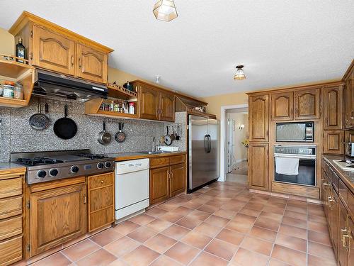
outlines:
[[[249,102],[249,98],[244,92],[239,92],[234,94],[222,94],[205,97],[202,98],[202,101],[206,101],[208,103],[207,112],[216,114],[217,119],[220,119],[221,106],[247,104]]]

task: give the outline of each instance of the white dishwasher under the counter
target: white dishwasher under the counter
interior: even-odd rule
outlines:
[[[115,162],[115,220],[149,206],[149,159]]]

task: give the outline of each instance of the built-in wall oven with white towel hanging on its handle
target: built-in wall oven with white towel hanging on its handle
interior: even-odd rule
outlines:
[[[316,186],[315,145],[275,145],[274,181]]]

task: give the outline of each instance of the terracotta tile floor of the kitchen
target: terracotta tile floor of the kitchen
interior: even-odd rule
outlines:
[[[322,206],[215,182],[34,265],[336,265]]]

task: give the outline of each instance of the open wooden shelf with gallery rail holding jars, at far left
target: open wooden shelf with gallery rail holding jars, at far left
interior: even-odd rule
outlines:
[[[8,58],[8,59],[6,59]],[[35,83],[35,69],[28,65],[28,60],[16,62],[21,59],[11,55],[0,54],[0,79],[20,82],[23,85],[24,99],[11,99],[0,96],[0,106],[23,107],[28,106]]]

